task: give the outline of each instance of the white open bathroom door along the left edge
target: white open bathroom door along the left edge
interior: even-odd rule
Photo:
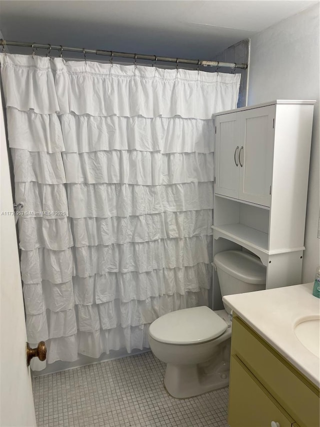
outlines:
[[[1,101],[1,100],[0,100]],[[3,114],[0,110],[0,425],[35,426],[20,266],[12,212]]]

